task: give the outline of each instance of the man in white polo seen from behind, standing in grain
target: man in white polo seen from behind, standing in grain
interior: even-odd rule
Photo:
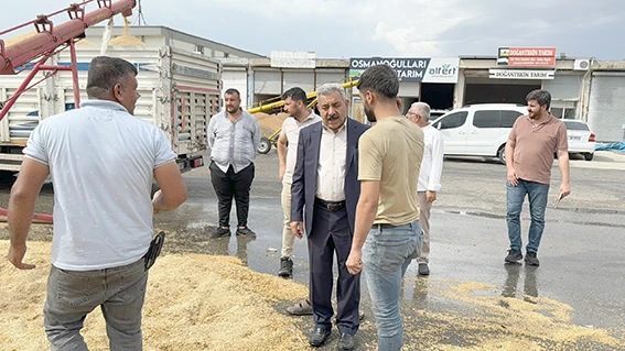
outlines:
[[[164,133],[132,116],[137,68],[121,58],[91,61],[89,100],[32,132],[9,200],[9,261],[20,270],[34,205],[54,186],[52,267],[44,328],[52,350],[87,350],[80,329],[98,306],[111,350],[142,350],[141,309],[153,215],[186,200]],[[160,190],[150,199],[152,179]]]

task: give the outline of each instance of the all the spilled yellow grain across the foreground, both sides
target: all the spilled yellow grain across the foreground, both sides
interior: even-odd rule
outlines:
[[[0,241],[0,252],[7,250]],[[49,242],[29,242],[26,262],[36,270],[0,264],[0,344],[7,350],[47,349],[42,307],[49,257]],[[572,308],[548,297],[504,297],[500,286],[474,282],[406,283],[413,285],[412,299],[428,303],[402,301],[405,350],[625,350],[622,336],[573,325]],[[276,308],[306,294],[305,286],[252,272],[235,257],[165,254],[150,272],[144,349],[310,350],[310,317]],[[99,311],[87,318],[84,336],[91,350],[108,349]],[[358,350],[375,348],[370,314],[358,340]],[[322,350],[331,349],[335,344]]]

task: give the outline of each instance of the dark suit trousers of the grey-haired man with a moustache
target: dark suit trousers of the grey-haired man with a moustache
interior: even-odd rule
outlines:
[[[315,205],[312,230],[308,237],[311,270],[311,303],[315,327],[332,329],[332,265],[334,252],[338,263],[336,282],[336,325],[341,332],[355,334],[359,327],[360,275],[352,275],[345,266],[352,249],[352,232],[345,208],[331,211]]]

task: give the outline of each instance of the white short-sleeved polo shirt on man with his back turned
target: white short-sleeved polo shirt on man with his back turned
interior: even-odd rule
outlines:
[[[54,266],[103,270],[148,252],[153,171],[176,157],[157,125],[117,102],[89,100],[43,120],[24,155],[52,175]]]

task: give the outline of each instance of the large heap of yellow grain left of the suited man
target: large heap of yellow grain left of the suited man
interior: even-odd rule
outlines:
[[[8,242],[0,241],[0,252]],[[29,242],[19,271],[0,265],[0,344],[3,350],[46,350],[43,304],[50,243]],[[292,317],[276,311],[278,300],[305,296],[304,286],[251,272],[235,257],[164,255],[150,271],[143,308],[144,350],[308,350],[308,338]],[[91,350],[108,349],[99,309],[83,336]]]

